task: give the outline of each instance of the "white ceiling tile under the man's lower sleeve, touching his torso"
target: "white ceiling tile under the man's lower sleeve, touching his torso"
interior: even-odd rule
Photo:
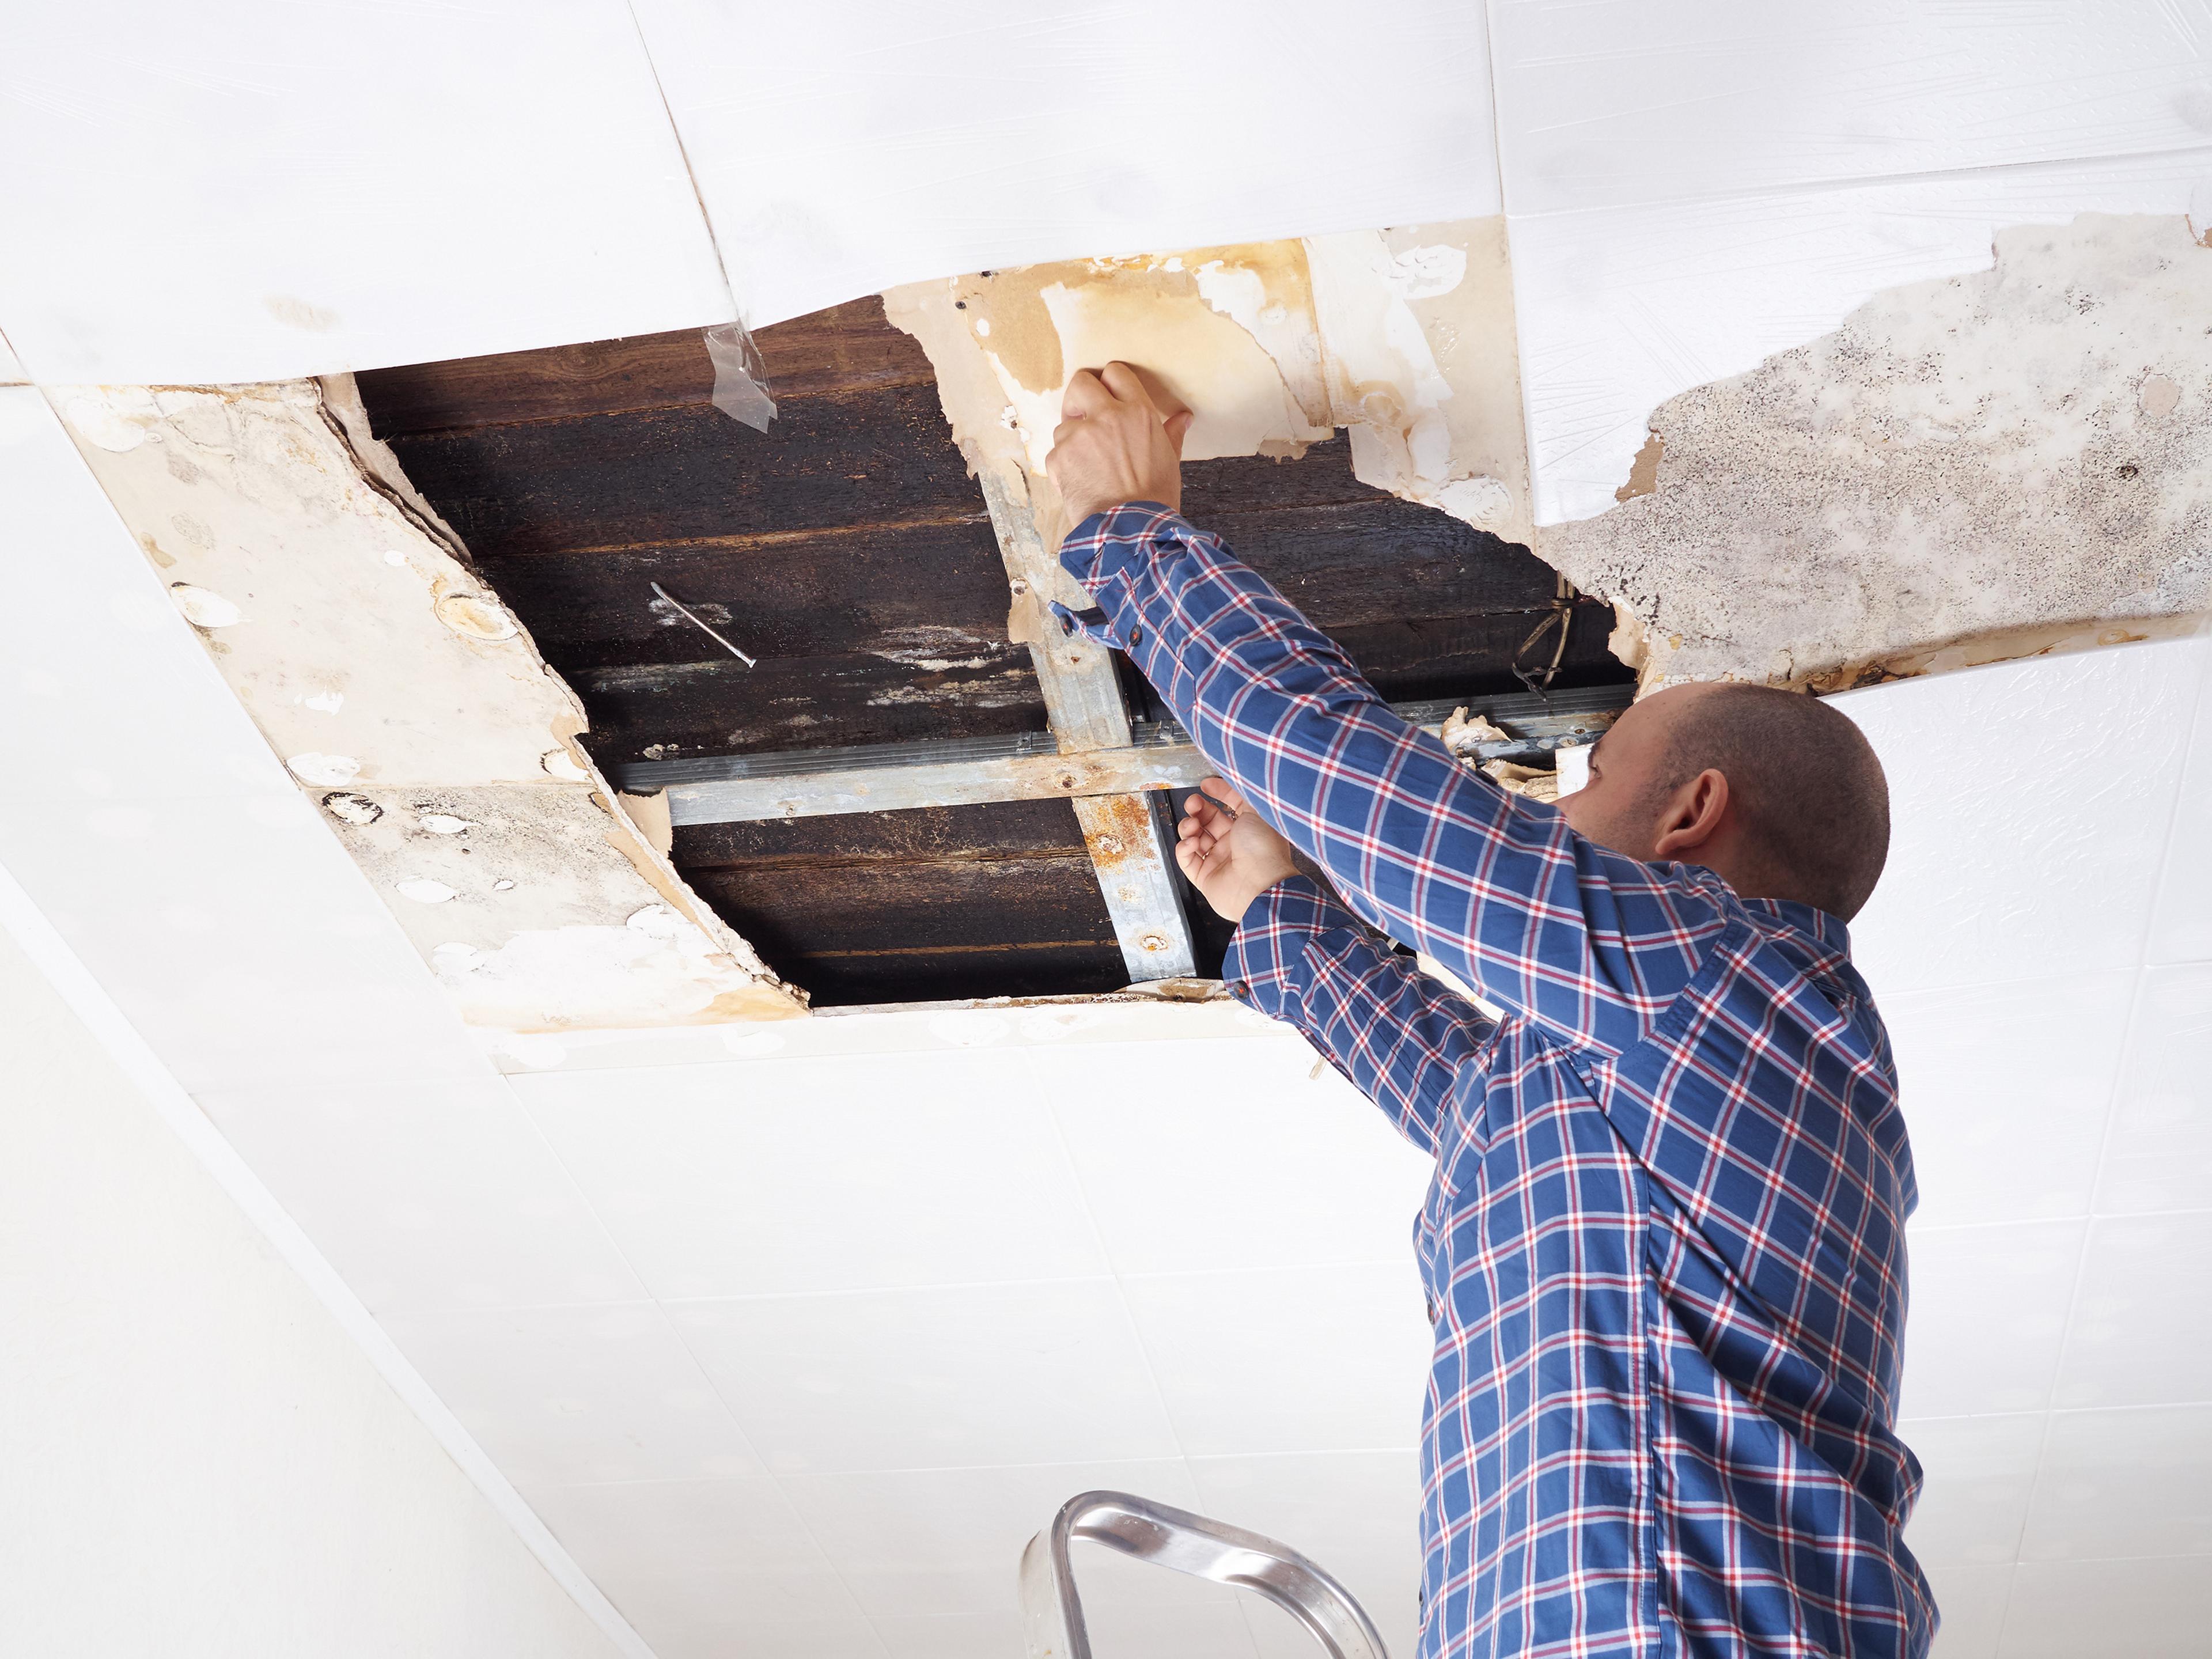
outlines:
[[[1119,1272],[1411,1259],[1436,1161],[1314,1062],[1290,1033],[1035,1055]]]

